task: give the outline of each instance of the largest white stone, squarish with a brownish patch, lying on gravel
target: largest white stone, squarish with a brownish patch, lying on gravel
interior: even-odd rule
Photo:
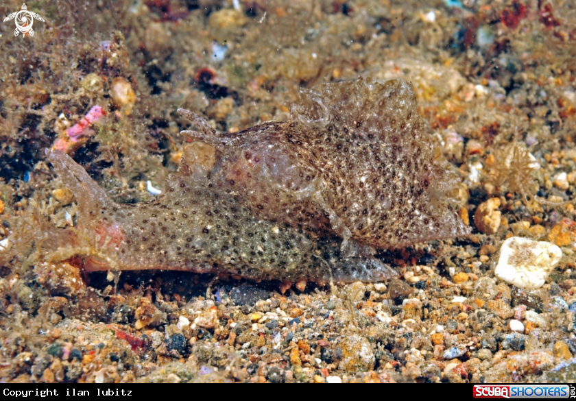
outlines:
[[[553,243],[513,236],[502,244],[494,274],[516,287],[539,289],[561,258],[562,250]]]

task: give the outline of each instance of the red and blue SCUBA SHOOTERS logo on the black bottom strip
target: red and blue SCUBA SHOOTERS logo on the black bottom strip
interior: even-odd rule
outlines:
[[[576,398],[575,385],[474,385],[474,398]]]

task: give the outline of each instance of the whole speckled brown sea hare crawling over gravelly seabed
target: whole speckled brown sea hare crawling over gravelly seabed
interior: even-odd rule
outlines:
[[[75,193],[74,240],[53,257],[82,256],[88,271],[176,269],[256,280],[378,281],[394,271],[376,249],[466,234],[411,84],[370,80],[304,91],[287,123],[219,134],[185,149],[151,202],[110,201],[65,154],[49,160]],[[56,254],[58,256],[56,256]]]

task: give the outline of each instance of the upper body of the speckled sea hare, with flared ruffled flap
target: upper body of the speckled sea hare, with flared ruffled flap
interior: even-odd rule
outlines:
[[[202,129],[184,132],[220,152],[224,185],[263,219],[380,249],[468,232],[451,205],[459,178],[435,154],[409,82],[321,84],[302,92],[294,121],[237,134],[180,112]]]

